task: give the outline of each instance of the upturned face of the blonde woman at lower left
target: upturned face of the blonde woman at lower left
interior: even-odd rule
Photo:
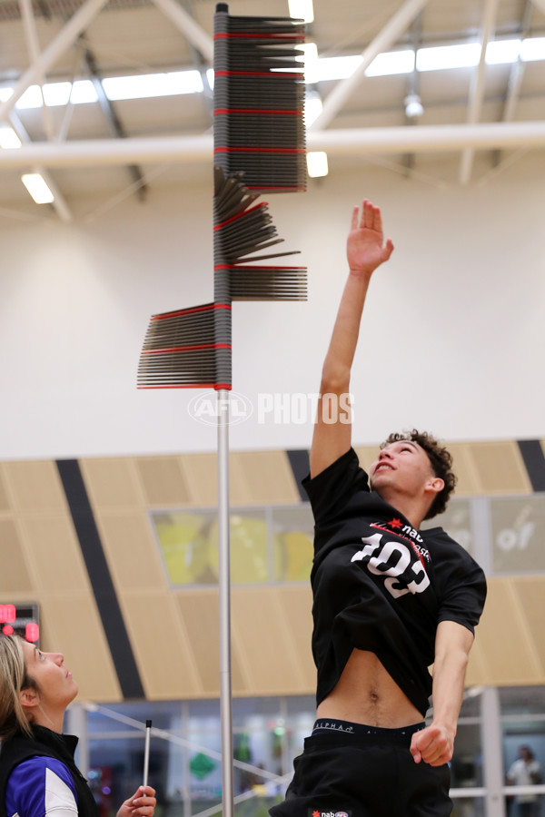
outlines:
[[[58,712],[74,701],[77,684],[64,666],[62,653],[44,653],[35,645],[24,642],[26,673],[38,687],[39,704],[48,712]]]

